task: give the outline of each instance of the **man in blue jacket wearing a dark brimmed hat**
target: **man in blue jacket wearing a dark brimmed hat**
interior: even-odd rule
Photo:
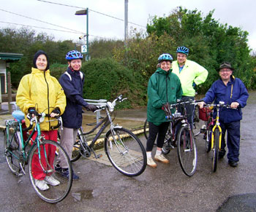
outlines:
[[[240,120],[242,119],[241,108],[246,106],[249,94],[241,79],[233,76],[234,68],[230,63],[224,62],[219,66],[218,79],[211,85],[207,91],[206,97],[203,98],[203,103],[219,103],[224,101],[229,104],[232,109],[222,108],[219,111],[219,122],[222,127],[222,146],[219,152],[219,158],[225,156],[225,133],[227,130],[227,159],[228,164],[232,167],[238,166],[239,161],[239,146],[240,146]],[[200,108],[203,107],[200,103]],[[216,114],[215,116],[216,117]]]

